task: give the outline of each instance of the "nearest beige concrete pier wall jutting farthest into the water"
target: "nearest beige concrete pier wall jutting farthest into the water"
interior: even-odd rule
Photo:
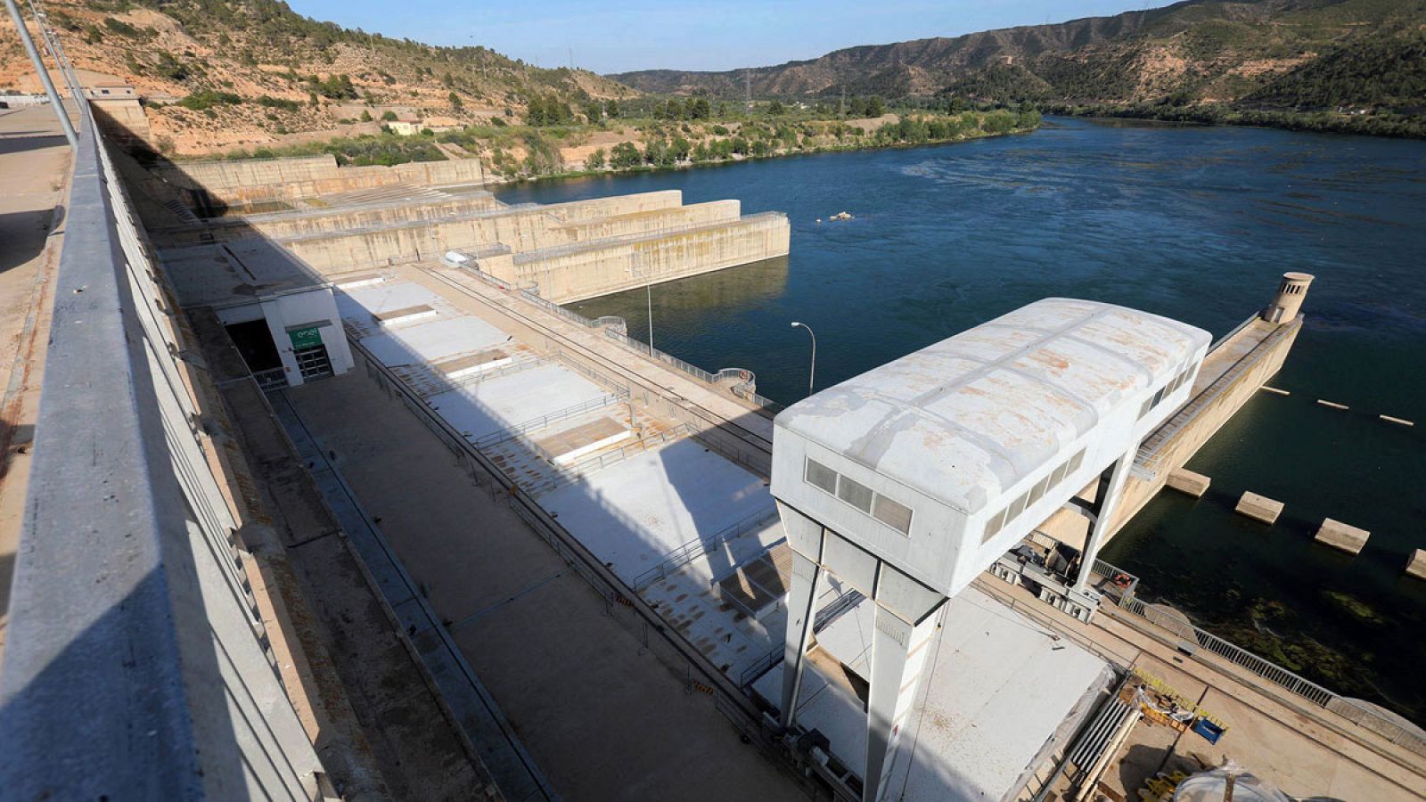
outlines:
[[[520,254],[512,260],[513,274],[496,275],[522,287],[535,284],[543,298],[568,304],[787,255],[790,233],[786,215],[757,214],[672,234]]]

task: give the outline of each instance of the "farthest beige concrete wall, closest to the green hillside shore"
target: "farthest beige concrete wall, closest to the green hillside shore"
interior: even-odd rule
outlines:
[[[183,161],[157,167],[164,181],[185,190],[202,190],[214,201],[245,205],[262,201],[295,201],[391,184],[483,184],[478,158],[418,161],[395,167],[338,167],[334,156],[251,158],[237,161]]]

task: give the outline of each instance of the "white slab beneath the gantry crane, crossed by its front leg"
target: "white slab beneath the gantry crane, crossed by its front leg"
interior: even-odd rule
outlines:
[[[870,612],[863,601],[857,611]],[[864,671],[870,615],[848,612],[817,635],[829,655],[856,654]],[[1094,654],[1052,638],[1035,622],[971,588],[947,605],[915,706],[888,772],[901,801],[1002,799],[1067,719],[1088,712],[1109,666]],[[833,658],[841,659],[841,656]],[[866,712],[841,682],[813,662],[803,679],[799,721],[817,728],[831,752],[857,775],[866,765]],[[757,691],[780,698],[781,671]]]

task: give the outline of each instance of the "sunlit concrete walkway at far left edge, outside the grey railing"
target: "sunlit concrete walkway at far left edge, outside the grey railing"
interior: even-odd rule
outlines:
[[[48,106],[0,110],[0,658],[68,173],[70,147]]]

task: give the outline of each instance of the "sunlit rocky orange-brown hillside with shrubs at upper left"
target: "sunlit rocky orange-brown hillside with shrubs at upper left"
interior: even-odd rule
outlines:
[[[485,47],[314,21],[278,0],[50,0],[44,9],[76,68],[135,86],[154,140],[175,153],[376,133],[384,116],[513,121],[532,98],[583,108],[637,94]],[[30,64],[10,17],[0,17],[0,87],[21,88]]]

